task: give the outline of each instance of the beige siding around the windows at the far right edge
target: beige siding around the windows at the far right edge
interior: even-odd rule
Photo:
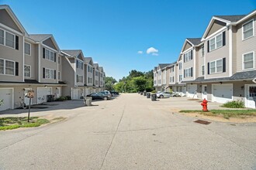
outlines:
[[[243,32],[242,32],[242,25],[245,22],[250,21],[251,19],[254,19],[254,36],[249,39],[242,40]],[[237,72],[243,71],[243,54],[249,53],[251,51],[254,51],[254,70],[256,68],[255,65],[255,56],[256,56],[256,16],[254,15],[250,19],[247,19],[246,21],[240,23],[237,26]]]

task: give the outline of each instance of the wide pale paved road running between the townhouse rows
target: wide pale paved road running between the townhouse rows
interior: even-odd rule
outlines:
[[[256,169],[256,124],[195,124],[166,101],[122,94],[0,131],[0,169]]]

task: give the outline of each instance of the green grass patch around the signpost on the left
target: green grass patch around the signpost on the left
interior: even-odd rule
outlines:
[[[16,128],[32,128],[39,127],[41,124],[50,123],[47,119],[39,117],[30,117],[27,122],[27,117],[1,117],[0,131],[11,130]]]

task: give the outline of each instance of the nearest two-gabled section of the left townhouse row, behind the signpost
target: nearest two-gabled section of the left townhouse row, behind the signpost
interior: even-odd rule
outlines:
[[[29,104],[27,90],[34,90],[32,104],[47,101],[47,94],[61,95],[60,49],[54,36],[29,35],[12,9],[0,5],[0,110]]]

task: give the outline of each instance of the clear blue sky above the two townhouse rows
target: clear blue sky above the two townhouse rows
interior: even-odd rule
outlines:
[[[255,0],[0,0],[26,31],[51,33],[61,49],[82,49],[119,80],[178,58],[185,38],[201,37],[213,15],[247,14]],[[147,53],[147,49],[154,49]],[[141,51],[138,53],[138,51]],[[154,53],[153,53],[154,52]]]

